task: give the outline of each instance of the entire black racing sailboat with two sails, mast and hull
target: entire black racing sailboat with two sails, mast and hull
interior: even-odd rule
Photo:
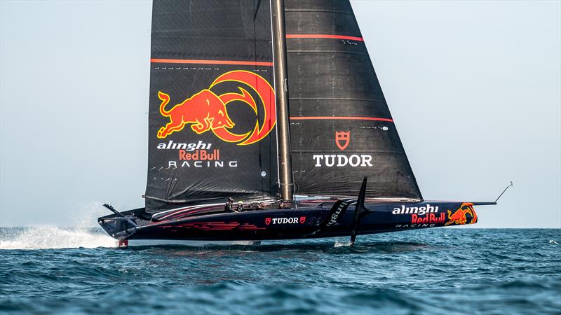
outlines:
[[[353,244],[495,204],[423,199],[347,0],[154,0],[150,73],[145,207],[98,219],[121,246]]]

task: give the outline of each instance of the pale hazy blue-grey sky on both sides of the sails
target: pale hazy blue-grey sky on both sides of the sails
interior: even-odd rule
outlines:
[[[351,1],[426,200],[561,228],[561,1]],[[151,1],[0,0],[0,226],[143,207]]]

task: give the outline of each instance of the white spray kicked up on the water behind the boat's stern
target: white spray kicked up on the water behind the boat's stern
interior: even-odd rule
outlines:
[[[0,249],[117,247],[117,241],[109,236],[94,234],[84,229],[63,229],[54,226],[4,231],[1,238]]]

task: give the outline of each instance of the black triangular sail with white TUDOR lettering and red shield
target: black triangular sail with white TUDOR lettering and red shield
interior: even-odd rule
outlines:
[[[286,0],[295,193],[422,199],[346,0]]]

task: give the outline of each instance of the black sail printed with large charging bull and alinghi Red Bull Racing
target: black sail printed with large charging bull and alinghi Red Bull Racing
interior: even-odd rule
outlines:
[[[147,211],[278,190],[269,1],[155,0]]]

